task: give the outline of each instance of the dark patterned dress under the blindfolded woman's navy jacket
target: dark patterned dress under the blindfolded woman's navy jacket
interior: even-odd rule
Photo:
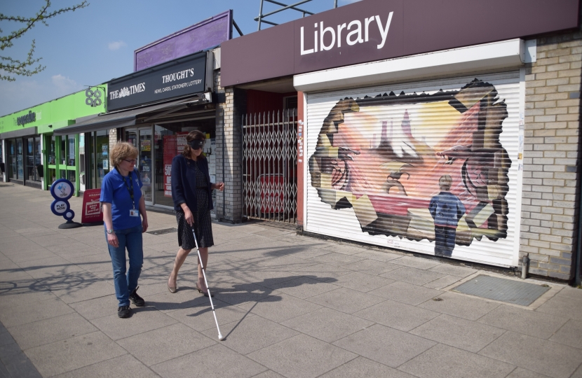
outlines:
[[[199,248],[208,248],[214,245],[212,238],[212,221],[210,220],[210,197],[208,196],[208,181],[206,181],[205,174],[198,169],[198,162],[191,161],[188,169],[196,169],[196,208],[193,212],[194,216],[194,231],[196,232],[196,239],[198,239]],[[176,211],[176,220],[178,222],[178,245],[182,249],[196,248],[194,243],[194,235],[192,229],[186,221],[184,211],[182,209]]]

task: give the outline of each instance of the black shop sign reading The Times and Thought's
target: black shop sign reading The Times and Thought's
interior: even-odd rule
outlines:
[[[176,59],[107,83],[107,111],[205,92],[206,52]]]

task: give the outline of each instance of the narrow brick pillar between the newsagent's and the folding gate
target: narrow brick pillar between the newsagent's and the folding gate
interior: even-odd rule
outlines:
[[[220,71],[215,71],[215,92],[224,93],[225,101],[218,104],[216,116],[216,173],[217,181],[224,181],[224,196],[217,193],[215,211],[217,218],[239,223],[243,218],[241,117],[246,113],[246,94],[232,87],[224,90]]]

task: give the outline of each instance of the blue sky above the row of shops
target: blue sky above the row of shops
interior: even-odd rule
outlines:
[[[359,0],[338,0],[344,6]],[[53,0],[50,9],[73,6],[81,0]],[[298,0],[278,0],[297,3]],[[127,75],[133,71],[133,51],[202,20],[234,10],[234,20],[243,34],[257,31],[260,0],[89,0],[90,5],[39,23],[0,56],[25,60],[32,40],[34,57],[42,57],[46,69],[34,76],[16,76],[16,81],[0,80],[0,116],[27,109],[52,99]],[[0,1],[0,13],[32,17],[43,0]],[[298,8],[320,13],[333,8],[334,0],[311,0]],[[264,2],[263,14],[280,8]],[[266,20],[281,24],[302,17],[284,10]],[[0,22],[0,35],[22,27]],[[263,24],[261,29],[271,27]],[[233,28],[233,37],[238,37]]]

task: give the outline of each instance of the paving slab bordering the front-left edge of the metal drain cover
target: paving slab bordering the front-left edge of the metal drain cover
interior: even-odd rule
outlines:
[[[419,307],[431,311],[437,311],[441,314],[448,314],[476,321],[478,318],[485,316],[485,314],[488,314],[490,311],[501,306],[501,304],[496,302],[481,300],[457,293],[442,293],[438,297],[442,300],[427,300],[426,302],[419,304]]]

